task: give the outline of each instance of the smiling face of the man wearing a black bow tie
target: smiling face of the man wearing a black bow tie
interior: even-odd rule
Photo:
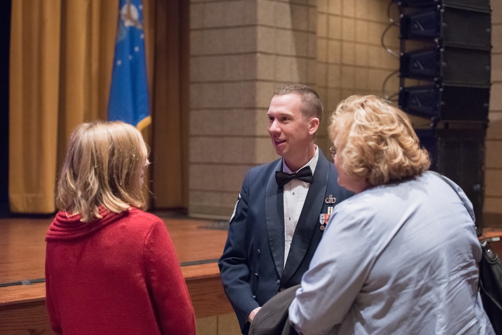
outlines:
[[[304,160],[319,125],[317,118],[303,118],[301,106],[297,94],[274,95],[267,112],[272,144],[286,163]]]

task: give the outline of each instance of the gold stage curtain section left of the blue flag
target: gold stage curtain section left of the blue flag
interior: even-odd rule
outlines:
[[[52,213],[72,129],[106,119],[118,1],[13,0],[9,199]]]

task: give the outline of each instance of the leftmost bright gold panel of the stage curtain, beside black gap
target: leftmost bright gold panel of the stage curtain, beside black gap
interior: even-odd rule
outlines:
[[[12,2],[9,199],[13,212],[54,211],[61,2]]]

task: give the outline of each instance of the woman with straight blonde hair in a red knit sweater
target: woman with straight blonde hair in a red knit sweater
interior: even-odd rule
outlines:
[[[122,122],[78,126],[47,232],[47,310],[58,334],[195,334],[194,310],[164,222],[143,208],[149,162]]]

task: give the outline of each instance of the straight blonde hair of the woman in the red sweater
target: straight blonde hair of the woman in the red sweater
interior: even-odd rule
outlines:
[[[101,217],[99,206],[115,213],[144,208],[140,176],[147,157],[145,141],[131,125],[98,121],[77,126],[58,183],[58,208],[80,214],[83,222]]]

